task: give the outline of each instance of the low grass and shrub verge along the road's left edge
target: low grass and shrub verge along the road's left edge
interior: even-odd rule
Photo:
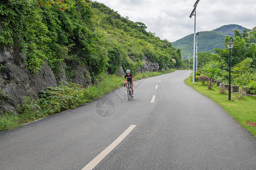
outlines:
[[[175,70],[164,72],[149,72],[136,73],[134,80],[148,78],[166,73],[171,73]],[[64,82],[58,87],[49,87],[47,90],[40,92],[39,100],[32,100],[30,97],[24,97],[23,103],[17,108],[18,114],[0,113],[0,131],[16,128],[20,125],[27,124],[39,120],[43,117],[51,116],[68,109],[76,108],[80,105],[88,103],[92,100],[108,94],[115,88],[123,85],[123,77],[115,75],[101,74],[101,81],[98,86],[90,86],[81,88],[80,85]]]

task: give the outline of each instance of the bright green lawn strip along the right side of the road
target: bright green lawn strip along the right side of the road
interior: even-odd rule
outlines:
[[[231,94],[231,101],[229,101],[228,92],[221,94],[220,88],[216,85],[214,85],[211,90],[208,90],[208,84],[203,85],[201,82],[192,84],[190,78],[185,79],[185,83],[219,104],[230,116],[235,118],[243,128],[250,131],[256,138],[256,127],[246,125],[248,122],[256,123],[256,97]]]

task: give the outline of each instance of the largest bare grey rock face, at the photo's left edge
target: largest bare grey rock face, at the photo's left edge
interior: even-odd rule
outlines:
[[[11,112],[16,112],[15,107],[22,103],[24,96],[39,99],[40,90],[57,86],[55,75],[47,61],[37,75],[32,75],[23,65],[20,55],[17,48],[0,46],[0,90],[10,95],[10,101],[3,101],[0,109]]]

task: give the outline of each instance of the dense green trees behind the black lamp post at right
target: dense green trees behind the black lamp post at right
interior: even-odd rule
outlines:
[[[235,42],[231,53],[232,85],[253,87],[256,92],[256,27],[242,33],[234,30],[235,37],[227,36],[225,42]],[[214,49],[215,53],[203,68],[203,73],[228,83],[229,49]]]

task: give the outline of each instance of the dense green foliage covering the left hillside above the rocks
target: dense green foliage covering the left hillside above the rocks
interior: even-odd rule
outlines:
[[[159,69],[183,65],[180,51],[146,28],[89,0],[0,1],[0,44],[18,46],[34,74],[44,60],[56,75],[70,76],[77,65],[91,76],[114,74],[120,66],[136,71],[144,57],[159,63]]]

